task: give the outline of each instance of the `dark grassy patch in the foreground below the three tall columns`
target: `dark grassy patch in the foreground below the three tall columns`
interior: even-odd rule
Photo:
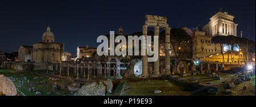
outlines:
[[[190,92],[195,91],[193,88],[160,78],[129,80],[126,85],[128,89],[125,93],[129,96],[189,96]],[[154,93],[156,89],[162,92]],[[193,95],[207,95],[207,93],[197,92]]]

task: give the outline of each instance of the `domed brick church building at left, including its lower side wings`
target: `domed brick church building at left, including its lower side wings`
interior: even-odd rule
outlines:
[[[64,44],[55,42],[55,36],[49,26],[43,33],[42,42],[37,42],[32,46],[19,47],[19,62],[60,62],[69,61],[71,53],[64,52]]]

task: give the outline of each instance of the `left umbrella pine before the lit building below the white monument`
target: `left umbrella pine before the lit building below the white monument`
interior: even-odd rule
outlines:
[[[224,59],[223,49],[224,49],[224,46],[226,46],[227,37],[226,37],[226,36],[214,36],[214,37],[212,38],[212,42],[213,42],[214,44],[220,44],[221,54],[222,54],[222,59],[223,59],[222,65],[224,66],[225,59]]]

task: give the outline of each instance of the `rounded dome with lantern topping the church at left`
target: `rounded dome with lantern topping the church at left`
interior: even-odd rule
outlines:
[[[47,31],[43,33],[42,41],[43,42],[54,42],[55,37],[53,33],[50,31],[49,25],[47,27]]]

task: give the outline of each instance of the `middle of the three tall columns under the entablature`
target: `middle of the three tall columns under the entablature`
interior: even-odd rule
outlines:
[[[159,26],[156,26],[154,29],[155,29],[155,36],[159,36]],[[158,42],[158,45],[157,45],[158,50],[154,50],[154,51],[158,51],[158,56],[157,56],[158,59],[154,62],[154,76],[155,77],[159,76],[159,39],[156,42]]]

